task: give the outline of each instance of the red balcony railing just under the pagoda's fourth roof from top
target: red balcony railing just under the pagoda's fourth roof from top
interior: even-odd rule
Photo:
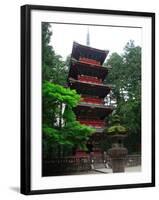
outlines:
[[[97,128],[102,128],[105,127],[106,123],[102,120],[78,120],[81,124],[85,124],[87,126],[92,126],[92,127],[97,127]]]

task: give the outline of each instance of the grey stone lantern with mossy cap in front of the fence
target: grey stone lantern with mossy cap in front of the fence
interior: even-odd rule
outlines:
[[[112,142],[108,155],[111,158],[113,173],[125,172],[128,150],[124,147],[123,141],[127,137],[127,129],[120,125],[118,115],[113,117],[112,126],[107,129],[107,135]]]

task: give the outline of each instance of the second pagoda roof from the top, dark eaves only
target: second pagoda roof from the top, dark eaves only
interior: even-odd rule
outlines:
[[[71,60],[68,77],[77,79],[77,76],[81,74],[97,77],[103,81],[108,74],[108,69],[102,66],[99,67],[96,65],[85,64],[80,61]]]

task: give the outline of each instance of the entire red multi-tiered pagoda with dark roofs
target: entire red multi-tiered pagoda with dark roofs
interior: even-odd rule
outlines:
[[[98,143],[107,126],[105,118],[113,111],[113,106],[106,102],[111,86],[103,83],[108,69],[102,65],[108,53],[109,51],[74,42],[68,75],[69,87],[82,97],[75,108],[77,120],[96,130],[88,141],[88,150],[94,154],[102,153]],[[76,155],[78,154],[83,155],[84,152],[76,150]]]

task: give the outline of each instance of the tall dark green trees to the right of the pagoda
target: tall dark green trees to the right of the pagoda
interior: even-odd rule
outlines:
[[[115,85],[116,113],[129,129],[126,146],[129,152],[137,151],[134,144],[141,143],[141,47],[129,41],[124,53],[113,53],[106,64],[112,67],[107,83]]]

